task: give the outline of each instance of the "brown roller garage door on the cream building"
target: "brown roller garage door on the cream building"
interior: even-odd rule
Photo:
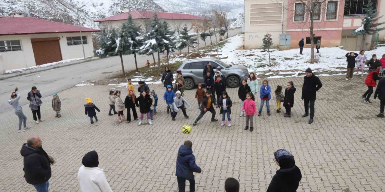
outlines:
[[[31,39],[36,65],[62,60],[58,37]]]

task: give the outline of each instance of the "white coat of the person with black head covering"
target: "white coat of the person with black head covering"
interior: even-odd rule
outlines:
[[[112,192],[103,169],[99,167],[81,166],[77,173],[77,179],[82,192]]]

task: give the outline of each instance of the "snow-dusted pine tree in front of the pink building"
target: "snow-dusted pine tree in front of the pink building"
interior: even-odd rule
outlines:
[[[365,17],[362,19],[362,25],[360,28],[353,31],[352,35],[363,35],[362,37],[362,43],[361,43],[361,49],[365,50],[364,44],[365,44],[365,37],[366,35],[373,35],[378,31],[382,31],[385,29],[385,27],[377,28],[379,25],[385,24],[385,22],[382,23],[376,23],[378,19],[382,18],[383,15],[380,17],[378,16],[378,13],[376,13],[376,9],[374,8],[374,4],[372,1],[369,1],[369,3],[365,6]]]

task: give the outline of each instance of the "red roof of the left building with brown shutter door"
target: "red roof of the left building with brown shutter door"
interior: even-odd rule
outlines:
[[[0,17],[0,35],[97,32],[100,30],[33,17]]]

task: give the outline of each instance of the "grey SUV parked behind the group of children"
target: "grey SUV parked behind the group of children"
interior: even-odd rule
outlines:
[[[204,83],[203,68],[211,62],[214,71],[220,66],[221,73],[226,77],[227,86],[230,88],[238,87],[242,79],[246,79],[249,71],[242,65],[228,65],[216,58],[199,58],[183,61],[177,69],[177,73],[183,74],[186,89],[192,89],[199,83]]]

